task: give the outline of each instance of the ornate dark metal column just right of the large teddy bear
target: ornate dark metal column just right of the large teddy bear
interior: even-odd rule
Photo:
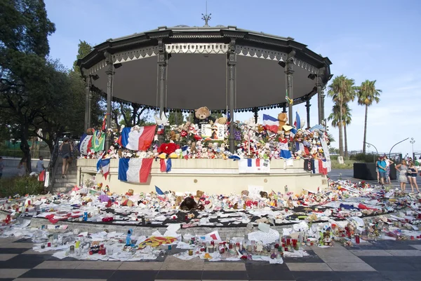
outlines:
[[[228,50],[228,108],[231,122],[229,122],[229,152],[234,153],[234,102],[235,102],[235,72],[236,72],[236,53],[235,39],[229,42]]]

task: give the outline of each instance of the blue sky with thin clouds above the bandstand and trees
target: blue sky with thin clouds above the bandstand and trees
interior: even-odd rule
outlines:
[[[57,31],[50,37],[51,57],[72,67],[77,44],[93,45],[156,29],[159,26],[201,26],[205,0],[45,0],[48,18]],[[383,90],[379,104],[368,109],[367,142],[388,152],[406,137],[421,151],[421,1],[250,1],[208,0],[209,24],[290,36],[333,62],[331,72],[354,78],[356,84],[377,80]],[[312,100],[312,125],[317,120]],[[325,115],[332,102],[326,97]],[[364,109],[350,104],[349,150],[361,150]],[[305,118],[304,105],[294,107]],[[276,116],[278,111],[267,111]],[[241,114],[239,118],[252,115]],[[331,127],[331,126],[330,126]],[[335,139],[338,130],[330,128]],[[338,146],[338,143],[333,143]],[[372,148],[373,149],[373,148]],[[411,152],[409,141],[394,151]]]

